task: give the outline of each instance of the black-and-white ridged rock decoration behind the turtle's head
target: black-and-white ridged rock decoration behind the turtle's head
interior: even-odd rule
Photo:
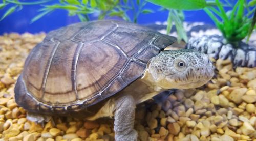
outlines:
[[[198,49],[214,59],[232,60],[234,67],[256,67],[256,45],[240,42],[240,48],[234,48],[223,40],[218,35],[191,37],[186,47]]]

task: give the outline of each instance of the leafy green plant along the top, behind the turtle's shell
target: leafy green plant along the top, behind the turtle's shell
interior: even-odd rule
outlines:
[[[60,0],[54,4],[48,4],[48,2],[54,2],[53,0],[39,0],[30,2],[21,2],[17,0],[5,0],[0,3],[0,9],[3,9],[7,5],[12,5],[2,16],[0,20],[3,20],[14,11],[19,11],[23,8],[23,5],[38,5],[42,8],[38,10],[39,14],[36,15],[31,22],[35,22],[41,17],[53,12],[56,9],[67,10],[69,16],[77,15],[81,21],[90,21],[89,15],[95,14],[98,19],[104,19],[105,17],[121,17],[126,21],[137,22],[140,14],[152,13],[151,9],[144,9],[146,1],[137,0]],[[135,5],[137,7],[135,8]],[[127,12],[132,12],[133,17],[129,17]]]

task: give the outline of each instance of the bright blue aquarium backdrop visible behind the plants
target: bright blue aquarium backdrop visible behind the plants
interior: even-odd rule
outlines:
[[[58,1],[52,1],[50,2],[50,4],[51,3],[58,3]],[[35,21],[34,23],[30,23],[30,20],[38,14],[37,10],[39,8],[41,8],[41,6],[39,5],[27,5],[24,6],[22,10],[14,12],[6,17],[4,20],[0,21],[0,35],[10,32],[49,32],[59,27],[79,22],[77,16],[69,17],[66,10],[55,10],[54,12],[49,13],[48,15]],[[159,11],[159,6],[147,3],[145,8],[152,9],[155,11],[155,13],[140,14],[138,18],[139,24],[151,24],[155,21],[167,20],[168,11]],[[8,7],[5,7],[4,9],[0,10],[0,16],[2,16],[7,9]],[[203,10],[185,11],[185,21],[201,21],[208,24],[214,24]]]

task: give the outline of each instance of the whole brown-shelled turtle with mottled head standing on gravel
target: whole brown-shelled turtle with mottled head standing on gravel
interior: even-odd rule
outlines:
[[[115,140],[137,140],[136,105],[169,89],[190,89],[214,74],[194,49],[164,50],[176,41],[118,20],[71,24],[51,31],[28,55],[14,92],[27,118],[114,117]]]

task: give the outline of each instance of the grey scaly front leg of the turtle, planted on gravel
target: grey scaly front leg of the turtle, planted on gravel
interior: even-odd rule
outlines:
[[[124,95],[115,100],[114,130],[115,140],[138,140],[134,129],[136,103],[131,95]]]

